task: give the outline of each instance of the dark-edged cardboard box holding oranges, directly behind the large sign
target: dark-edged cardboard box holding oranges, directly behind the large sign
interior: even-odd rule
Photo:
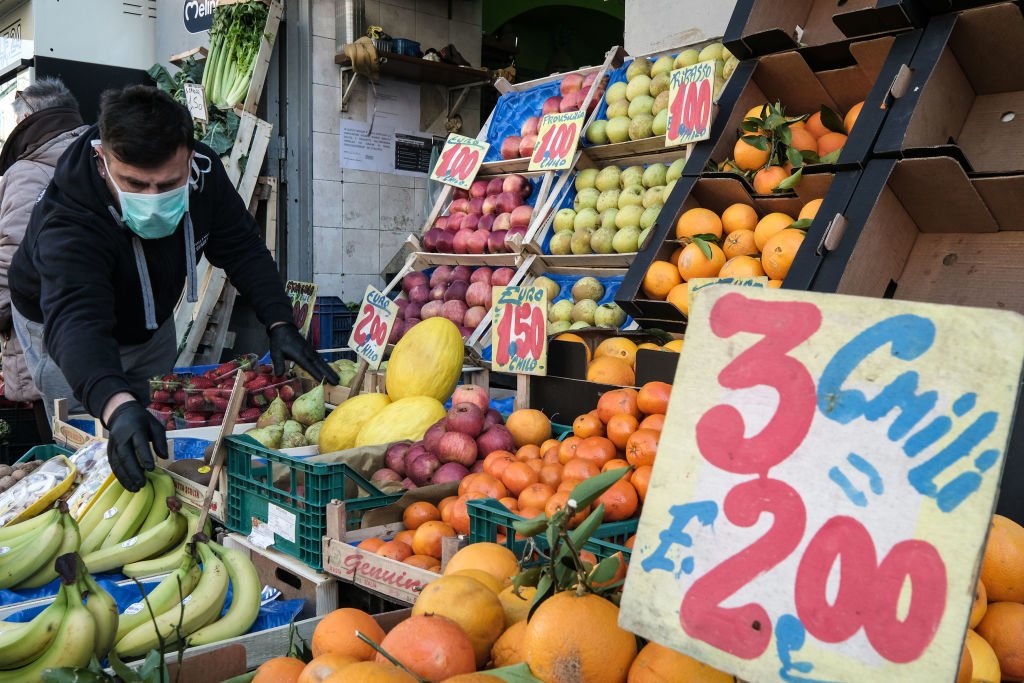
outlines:
[[[686,318],[675,305],[668,301],[650,299],[643,292],[643,278],[650,264],[658,259],[668,260],[680,247],[681,243],[675,239],[675,230],[676,221],[683,212],[703,207],[721,214],[730,205],[738,203],[754,207],[760,216],[780,211],[796,218],[807,202],[823,199],[814,224],[824,223],[828,216],[846,209],[858,176],[857,171],[841,171],[835,174],[809,173],[797,185],[795,194],[774,197],[751,195],[745,183],[734,176],[705,178],[684,176],[676,183],[673,190],[676,200],[682,198],[676,213],[662,211],[657,222],[654,223],[649,243],[637,255],[623,286],[618,288],[615,302],[644,327],[658,327],[669,332],[685,332]],[[812,232],[808,232],[801,252],[815,248],[811,234]],[[792,276],[791,271],[786,280]]]

